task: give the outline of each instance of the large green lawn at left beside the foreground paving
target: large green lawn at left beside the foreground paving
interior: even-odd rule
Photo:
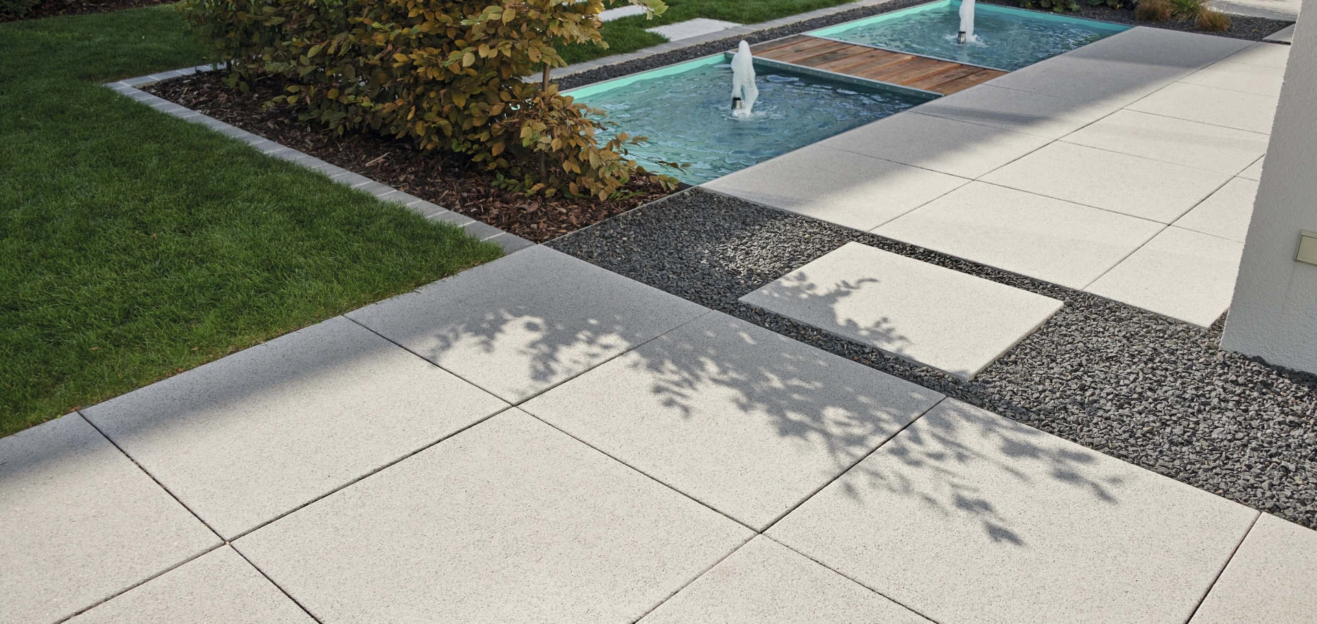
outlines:
[[[499,255],[99,82],[173,7],[0,24],[0,436]]]

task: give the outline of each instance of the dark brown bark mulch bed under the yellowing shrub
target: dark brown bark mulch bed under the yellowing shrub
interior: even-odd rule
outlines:
[[[215,71],[175,78],[144,90],[535,242],[557,238],[668,195],[656,182],[637,176],[624,188],[633,194],[627,199],[525,197],[494,188],[494,174],[477,171],[453,154],[423,153],[410,141],[378,134],[340,137],[299,122],[287,108],[263,105],[279,95],[273,84],[257,84],[242,93],[221,80]]]

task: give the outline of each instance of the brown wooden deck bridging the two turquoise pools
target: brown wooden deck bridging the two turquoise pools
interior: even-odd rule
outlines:
[[[942,95],[955,93],[1006,74],[1001,70],[878,50],[807,34],[765,41],[751,46],[751,51],[756,57],[780,63],[792,63]]]

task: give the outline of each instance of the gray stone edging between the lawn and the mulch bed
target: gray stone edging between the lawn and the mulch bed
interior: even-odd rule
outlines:
[[[151,107],[162,113],[169,113],[178,118],[191,121],[194,124],[202,124],[220,134],[242,141],[244,143],[255,147],[265,155],[275,157],[282,161],[294,162],[312,171],[319,171],[321,174],[328,175],[329,179],[333,182],[337,182],[340,184],[346,184],[348,187],[356,188],[358,191],[363,191],[382,201],[392,201],[396,204],[402,204],[408,209],[411,209],[412,212],[421,215],[425,219],[432,219],[436,221],[444,221],[457,225],[464,230],[466,230],[468,234],[479,238],[481,241],[490,241],[498,244],[499,246],[503,247],[504,254],[510,254],[512,251],[518,251],[535,245],[533,242],[527,241],[525,238],[522,238],[516,234],[503,232],[502,229],[495,228],[493,225],[449,211],[441,205],[432,204],[414,195],[402,192],[387,184],[381,184],[370,178],[348,171],[346,169],[329,165],[328,162],[324,162],[311,154],[304,154],[292,147],[279,145],[274,141],[270,141],[269,138],[253,134],[241,128],[225,124],[217,118],[208,117],[196,111],[182,107],[162,97],[157,97],[151,93],[148,93],[137,88],[137,87],[145,87],[148,84],[154,84],[161,80],[169,80],[171,78],[192,75],[199,71],[209,71],[212,68],[213,66],[211,65],[199,65],[196,67],[162,71],[159,74],[151,74],[149,76],[129,78],[126,80],[107,83],[105,87],[124,96],[128,96],[133,100],[137,100],[142,104],[146,104],[148,107]]]

